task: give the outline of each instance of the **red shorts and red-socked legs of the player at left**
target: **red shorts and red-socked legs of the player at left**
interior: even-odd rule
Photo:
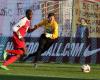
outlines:
[[[21,55],[25,53],[25,42],[19,41],[19,43],[14,42],[14,49],[15,50],[7,50],[6,52],[15,54],[15,56],[11,56],[8,60],[4,61],[4,63],[0,66],[2,69],[8,70],[7,66],[14,63],[16,60],[20,58]],[[20,47],[20,48],[19,48]]]

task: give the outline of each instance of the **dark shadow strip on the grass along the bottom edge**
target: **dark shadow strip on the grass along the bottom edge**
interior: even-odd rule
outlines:
[[[0,75],[0,80],[94,80],[94,79],[40,77],[40,76],[18,76],[18,75]]]

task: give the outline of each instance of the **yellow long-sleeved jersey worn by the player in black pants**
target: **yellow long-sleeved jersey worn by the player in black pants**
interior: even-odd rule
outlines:
[[[51,39],[58,38],[58,24],[56,21],[49,23],[47,19],[43,19],[37,26],[44,26],[44,32],[52,34]]]

